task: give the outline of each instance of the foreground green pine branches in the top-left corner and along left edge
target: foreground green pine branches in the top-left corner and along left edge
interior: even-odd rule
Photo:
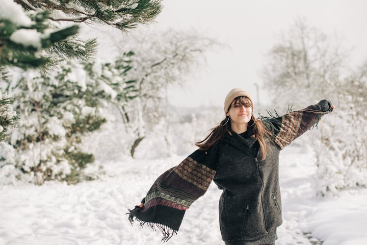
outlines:
[[[48,71],[61,60],[85,62],[95,54],[96,39],[82,40],[77,36],[78,25],[59,27],[60,22],[99,23],[127,31],[150,23],[160,10],[158,0],[2,0],[0,82],[9,82],[8,67]],[[0,107],[9,108],[11,101],[2,100]],[[0,118],[5,129],[0,131],[0,140],[17,117],[5,119]]]

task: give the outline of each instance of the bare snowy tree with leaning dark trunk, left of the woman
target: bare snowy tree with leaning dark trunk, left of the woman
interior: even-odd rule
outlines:
[[[131,79],[138,83],[139,96],[122,108],[125,123],[136,139],[135,148],[144,139],[147,130],[152,130],[160,121],[167,119],[167,89],[180,86],[195,69],[205,64],[205,52],[219,45],[198,33],[168,30],[146,36],[131,38],[121,49],[133,50],[134,61]],[[168,141],[166,139],[166,141]],[[168,144],[168,143],[167,143]]]

